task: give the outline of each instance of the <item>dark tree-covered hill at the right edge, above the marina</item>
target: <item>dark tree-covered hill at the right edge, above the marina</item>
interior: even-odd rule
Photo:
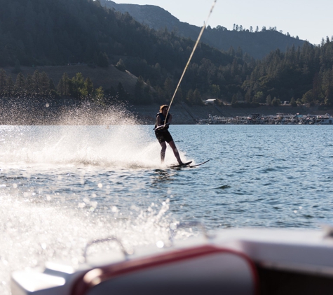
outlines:
[[[247,101],[266,103],[274,97],[280,101],[333,103],[333,38],[321,45],[305,43],[301,48],[271,52],[256,63],[243,83]]]

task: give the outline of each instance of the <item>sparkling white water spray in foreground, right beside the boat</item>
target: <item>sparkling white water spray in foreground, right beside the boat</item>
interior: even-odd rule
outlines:
[[[90,240],[117,236],[128,249],[140,245],[168,242],[170,235],[168,200],[151,204],[136,212],[132,219],[121,219],[117,208],[112,215],[94,216],[86,211],[55,208],[48,204],[29,203],[10,195],[0,196],[0,294],[10,294],[13,271],[43,266],[45,261],[83,262],[83,249]],[[183,237],[191,233],[181,232]],[[95,252],[118,251],[107,243],[92,247]]]

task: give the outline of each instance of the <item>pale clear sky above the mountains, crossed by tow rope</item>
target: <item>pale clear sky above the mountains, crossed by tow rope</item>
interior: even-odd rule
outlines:
[[[113,0],[116,3],[150,4],[168,10],[182,22],[202,26],[213,0]],[[233,29],[233,24],[259,30],[276,27],[283,34],[319,44],[333,35],[333,0],[217,0],[208,22]]]

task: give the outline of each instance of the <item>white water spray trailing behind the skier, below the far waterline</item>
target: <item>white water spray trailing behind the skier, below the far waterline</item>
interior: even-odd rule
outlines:
[[[144,126],[0,127],[0,136],[3,168],[13,164],[161,168],[161,147]],[[165,164],[174,162],[169,148]]]

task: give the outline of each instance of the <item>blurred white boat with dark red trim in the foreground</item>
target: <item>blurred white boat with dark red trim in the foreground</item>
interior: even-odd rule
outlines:
[[[79,265],[48,262],[43,269],[16,271],[12,294],[332,293],[329,231],[226,229],[158,246],[133,254],[122,248]]]

